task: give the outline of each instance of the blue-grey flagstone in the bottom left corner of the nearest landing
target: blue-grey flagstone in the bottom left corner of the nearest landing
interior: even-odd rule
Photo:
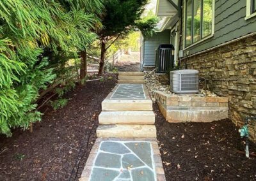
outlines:
[[[105,168],[93,168],[90,181],[112,181],[119,175],[119,173],[119,171]]]

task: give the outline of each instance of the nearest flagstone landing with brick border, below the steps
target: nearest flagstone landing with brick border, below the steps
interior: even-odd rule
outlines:
[[[155,138],[98,138],[81,181],[164,181]]]

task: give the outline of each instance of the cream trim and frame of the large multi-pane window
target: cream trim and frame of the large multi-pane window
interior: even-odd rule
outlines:
[[[184,38],[183,38],[183,50],[186,50],[190,47],[193,47],[194,45],[197,45],[198,43],[201,43],[202,41],[205,41],[209,38],[212,38],[212,36],[214,36],[214,25],[215,25],[215,0],[212,0],[212,33],[205,36],[204,38],[202,38],[201,40],[198,40],[196,41],[195,43],[192,43],[191,45],[188,45],[186,47],[186,22],[187,22],[187,0],[184,1],[184,22],[183,22],[183,34],[184,34]],[[193,10],[193,7],[192,7],[192,10]],[[202,6],[201,6],[201,14],[203,13],[203,3],[202,3]],[[202,21],[202,18],[201,18],[201,21]],[[193,24],[193,18],[192,18],[192,24]],[[200,25],[202,26],[202,24]],[[191,33],[192,33],[192,39],[193,39],[193,30],[192,30],[193,26],[191,26]],[[202,31],[202,27],[200,29],[200,31]],[[202,33],[201,35],[202,36]]]

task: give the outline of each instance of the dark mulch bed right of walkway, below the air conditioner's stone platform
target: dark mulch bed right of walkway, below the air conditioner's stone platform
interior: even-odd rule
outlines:
[[[244,139],[230,120],[171,124],[154,110],[166,180],[256,180],[256,157],[237,152]]]

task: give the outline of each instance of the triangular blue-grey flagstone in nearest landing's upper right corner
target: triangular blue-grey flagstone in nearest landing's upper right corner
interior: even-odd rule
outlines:
[[[146,163],[150,168],[152,166],[151,147],[149,142],[131,142],[125,145],[134,152],[140,159]]]

